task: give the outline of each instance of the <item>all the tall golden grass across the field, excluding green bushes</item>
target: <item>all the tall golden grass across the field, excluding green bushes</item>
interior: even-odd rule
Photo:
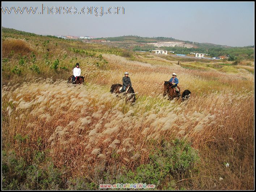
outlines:
[[[102,54],[108,62],[104,63],[67,49],[82,47],[82,43],[56,40],[58,46],[48,45],[49,58],[58,58],[60,66],[68,66],[69,71],[54,72],[45,64],[46,48],[22,40],[3,43],[8,41],[21,44],[19,49],[24,50],[19,53],[38,53],[42,73],[40,78],[31,77],[31,71],[24,67],[20,84],[6,81],[2,86],[4,150],[14,149],[30,161],[33,151],[39,149],[38,138],[42,138],[40,150],[50,150],[57,167],[65,166],[72,169],[73,176],[93,180],[95,168],[102,162],[133,170],[148,161],[150,150],[159,147],[162,139],[178,137],[191,141],[201,157],[197,177],[179,183],[187,182],[189,189],[253,189],[254,76],[247,70],[251,67],[243,66],[232,74],[183,68],[165,58],[155,58],[165,63],[158,64]],[[98,45],[86,46],[96,49]],[[3,47],[7,57],[13,48],[8,44]],[[14,61],[10,59],[8,65]],[[76,62],[85,85],[63,80],[71,75]],[[121,83],[125,71],[136,91],[134,105],[109,92],[112,84]],[[162,96],[163,82],[173,72],[178,74],[182,91],[191,91],[189,101],[170,101]],[[49,76],[52,78],[43,78]],[[17,134],[28,135],[29,140],[20,143],[14,139]]]

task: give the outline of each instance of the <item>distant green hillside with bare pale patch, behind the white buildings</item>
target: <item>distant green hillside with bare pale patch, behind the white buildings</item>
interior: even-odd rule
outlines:
[[[98,38],[104,40],[114,41],[111,45],[119,48],[132,48],[133,50],[148,51],[151,49],[159,49],[153,45],[147,45],[147,43],[157,43],[160,41],[174,41],[183,42],[193,45],[193,48],[185,47],[160,47],[160,49],[174,51],[177,54],[189,54],[191,52],[210,54],[211,57],[228,56],[234,54],[240,59],[254,59],[254,46],[245,47],[231,47],[226,45],[216,45],[211,43],[195,43],[191,41],[176,40],[172,37],[140,37],[140,36],[120,36],[120,37],[106,37]],[[93,41],[93,40],[91,40]]]

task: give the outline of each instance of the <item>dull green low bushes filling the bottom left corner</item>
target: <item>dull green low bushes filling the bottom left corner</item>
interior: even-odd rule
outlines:
[[[25,162],[23,157],[18,157],[13,151],[8,154],[3,152],[2,154],[2,189],[63,189],[64,182],[62,180],[62,174],[52,162],[46,162],[45,152],[35,151],[33,162],[29,165]]]

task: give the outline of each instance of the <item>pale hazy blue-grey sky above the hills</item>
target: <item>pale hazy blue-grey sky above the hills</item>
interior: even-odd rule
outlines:
[[[52,8],[52,13],[47,14],[45,8],[42,14],[42,4],[49,10]],[[10,10],[12,6],[38,8],[35,14],[26,10],[15,14],[13,9],[10,14],[3,13],[6,7]],[[68,8],[59,12],[54,7]],[[75,12],[71,7],[77,9],[76,14],[71,14]],[[103,10],[102,16],[95,15],[95,7],[99,7],[97,13]],[[117,7],[123,7],[124,14],[123,9],[115,13]],[[254,2],[2,2],[1,8],[3,27],[40,35],[163,36],[229,46],[254,45]],[[111,8],[109,12],[108,8]]]

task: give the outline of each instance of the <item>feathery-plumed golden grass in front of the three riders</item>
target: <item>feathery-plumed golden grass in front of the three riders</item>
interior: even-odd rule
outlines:
[[[236,154],[247,161],[253,154],[253,91],[193,95],[185,103],[153,93],[153,97],[138,97],[131,106],[100,85],[73,86],[39,79],[17,88],[4,86],[2,94],[3,112],[9,118],[3,139],[29,157],[12,138],[29,135],[22,148],[31,148],[42,138],[54,163],[72,168],[74,175],[93,177],[91,165],[102,160],[133,169],[145,163],[150,149],[157,147],[147,145],[151,139],[185,138],[195,148],[217,144],[222,149],[223,143],[227,151],[247,146],[244,157]],[[120,155],[118,159],[113,153]],[[242,166],[232,159],[223,161]],[[221,160],[217,162],[221,165]]]

